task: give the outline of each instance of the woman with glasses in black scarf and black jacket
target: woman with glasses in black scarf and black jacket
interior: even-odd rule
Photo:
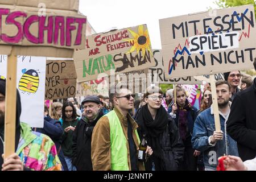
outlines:
[[[144,94],[146,105],[139,108],[135,121],[140,136],[146,135],[147,144],[154,153],[146,160],[146,170],[177,170],[183,159],[183,143],[174,120],[162,106],[163,92],[150,86]]]

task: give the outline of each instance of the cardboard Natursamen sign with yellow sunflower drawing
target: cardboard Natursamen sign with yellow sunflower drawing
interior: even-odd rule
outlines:
[[[79,82],[155,66],[146,24],[87,36],[74,60]]]

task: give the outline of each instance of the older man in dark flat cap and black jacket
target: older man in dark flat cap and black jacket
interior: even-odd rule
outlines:
[[[77,171],[92,171],[92,131],[98,119],[103,116],[103,111],[97,96],[87,96],[81,104],[84,106],[85,117],[77,123],[73,134],[72,163]]]

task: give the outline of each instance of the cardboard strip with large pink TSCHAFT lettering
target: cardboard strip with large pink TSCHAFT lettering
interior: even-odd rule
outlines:
[[[34,14],[33,14],[34,13]],[[0,8],[1,44],[82,48],[86,18]]]

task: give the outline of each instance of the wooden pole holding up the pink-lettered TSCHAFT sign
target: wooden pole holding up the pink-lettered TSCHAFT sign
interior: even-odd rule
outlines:
[[[17,56],[11,51],[7,60],[6,96],[5,96],[5,159],[15,152],[16,130],[16,72]]]

